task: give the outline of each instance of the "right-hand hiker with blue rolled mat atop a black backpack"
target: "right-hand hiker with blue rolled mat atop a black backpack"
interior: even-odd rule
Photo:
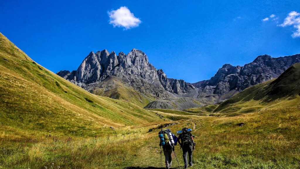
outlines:
[[[195,146],[193,135],[190,133],[191,129],[183,128],[181,134],[178,136],[178,143],[180,144],[180,149],[182,148],[183,152],[183,160],[184,160],[184,168],[187,168],[187,154],[189,158],[190,167],[194,164],[193,160],[193,149]]]

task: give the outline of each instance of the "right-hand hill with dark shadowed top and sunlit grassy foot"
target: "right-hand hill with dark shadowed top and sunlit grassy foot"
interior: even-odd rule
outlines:
[[[272,107],[300,105],[300,63],[290,66],[278,78],[256,84],[221,103],[214,112],[253,112]]]

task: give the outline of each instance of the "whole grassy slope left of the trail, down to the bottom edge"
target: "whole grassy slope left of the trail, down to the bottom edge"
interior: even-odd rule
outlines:
[[[130,126],[163,121],[55,75],[1,33],[0,94],[1,169],[115,168],[143,146],[146,129]]]

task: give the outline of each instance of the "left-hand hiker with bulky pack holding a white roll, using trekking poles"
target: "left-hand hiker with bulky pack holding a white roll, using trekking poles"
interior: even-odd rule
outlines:
[[[172,166],[172,151],[174,151],[175,142],[177,137],[171,132],[170,129],[162,129],[158,133],[160,140],[159,146],[162,146],[166,168],[169,169]],[[173,139],[174,138],[174,139]]]

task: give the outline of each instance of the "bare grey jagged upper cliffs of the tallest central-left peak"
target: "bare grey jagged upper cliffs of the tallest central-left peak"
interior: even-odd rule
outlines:
[[[156,69],[149,63],[147,55],[139,50],[133,49],[127,55],[120,52],[117,56],[113,51],[107,50],[91,52],[80,64],[75,73],[60,71],[58,75],[84,84],[102,81],[109,76],[120,78],[142,78],[160,86]]]

